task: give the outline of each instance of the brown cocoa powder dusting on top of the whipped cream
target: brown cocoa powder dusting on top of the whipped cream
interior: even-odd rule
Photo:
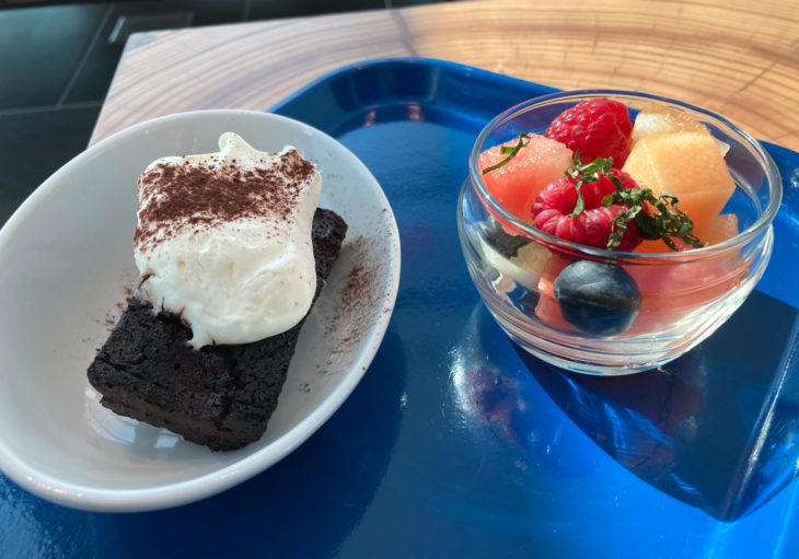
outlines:
[[[254,170],[216,160],[160,163],[139,177],[141,224],[134,242],[152,249],[185,226],[198,232],[243,218],[286,220],[313,173],[297,150]]]

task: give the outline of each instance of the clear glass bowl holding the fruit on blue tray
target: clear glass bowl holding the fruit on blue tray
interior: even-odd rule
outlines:
[[[479,154],[517,139],[520,132],[543,133],[560,113],[594,97],[624,103],[632,118],[649,102],[664,104],[703,123],[715,138],[728,143],[725,161],[736,191],[723,213],[738,217],[739,234],[681,253],[622,253],[557,238],[505,209],[483,182]],[[470,177],[458,202],[458,229],[472,279],[513,341],[565,369],[619,375],[676,359],[710,336],[741,306],[768,264],[774,238],[772,220],[781,196],[777,167],[760,142],[713,113],[640,93],[564,92],[517,105],[480,132],[470,155]],[[582,260],[621,268],[635,281],[640,308],[624,331],[597,335],[572,326],[574,313],[571,321],[564,319],[554,295],[554,281],[565,266]],[[611,317],[611,322],[614,319]]]

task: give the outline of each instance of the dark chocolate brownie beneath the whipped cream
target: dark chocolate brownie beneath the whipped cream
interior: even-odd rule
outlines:
[[[317,209],[314,303],[347,232],[344,220]],[[101,404],[120,416],[169,429],[212,451],[257,441],[277,407],[304,318],[252,343],[193,349],[192,329],[170,313],[154,313],[136,296],[89,368]]]

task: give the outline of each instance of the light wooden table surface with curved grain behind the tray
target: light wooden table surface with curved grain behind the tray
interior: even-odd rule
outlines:
[[[173,113],[264,110],[341,66],[407,56],[657,93],[799,150],[797,0],[452,2],[137,34],[92,143]]]

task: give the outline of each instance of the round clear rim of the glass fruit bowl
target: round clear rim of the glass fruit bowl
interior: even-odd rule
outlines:
[[[695,248],[693,251],[685,251],[685,252],[672,252],[672,253],[623,253],[619,251],[607,251],[605,248],[594,248],[592,246],[586,246],[578,243],[574,243],[571,241],[565,241],[563,238],[556,237],[555,235],[551,235],[548,233],[544,233],[543,231],[536,229],[535,226],[520,220],[516,216],[513,216],[511,212],[509,212],[507,209],[505,209],[498,200],[496,200],[491,194],[488,191],[488,188],[486,188],[485,183],[483,182],[483,175],[480,173],[480,170],[477,165],[480,149],[483,148],[483,144],[486,142],[488,137],[494,132],[495,129],[498,128],[498,126],[509,119],[510,117],[519,114],[524,110],[529,110],[531,108],[534,108],[537,105],[543,105],[549,101],[558,100],[558,101],[588,101],[591,98],[602,97],[606,95],[617,95],[617,96],[627,96],[627,97],[637,97],[641,100],[650,100],[650,101],[658,101],[661,103],[665,103],[669,105],[676,105],[680,107],[688,108],[691,110],[695,110],[700,114],[705,114],[709,116],[710,118],[721,123],[722,125],[729,127],[734,133],[739,135],[744,142],[748,142],[754,150],[757,152],[757,154],[763,159],[765,162],[764,165],[764,172],[766,175],[766,179],[768,180],[769,188],[772,190],[772,197],[768,201],[768,206],[763,210],[763,213],[755,220],[755,222],[750,225],[744,231],[738,233],[732,238],[729,238],[727,241],[723,241],[721,243],[718,243],[716,245],[706,246],[704,248]],[[519,103],[518,105],[514,105],[510,107],[509,109],[500,113],[495,118],[491,119],[490,123],[488,123],[485,128],[480,131],[480,133],[477,136],[477,139],[474,142],[474,145],[472,147],[472,151],[468,156],[468,167],[470,167],[470,178],[473,186],[476,186],[476,189],[483,199],[483,202],[486,203],[489,209],[491,209],[494,212],[496,212],[497,216],[506,220],[508,223],[512,224],[514,228],[522,231],[528,236],[531,236],[537,241],[543,241],[547,245],[554,245],[561,248],[566,248],[569,252],[577,253],[577,254],[584,254],[587,256],[591,256],[593,258],[602,258],[602,259],[628,259],[628,260],[639,260],[639,261],[646,261],[651,263],[655,260],[662,260],[663,263],[687,263],[687,261],[694,261],[694,260],[702,260],[705,258],[709,258],[713,256],[716,256],[721,253],[726,253],[733,248],[739,248],[749,241],[753,240],[754,237],[759,236],[763,231],[768,228],[774,220],[775,216],[777,214],[777,211],[779,210],[779,205],[783,199],[783,182],[779,176],[779,171],[777,170],[777,165],[772,159],[772,156],[768,154],[768,152],[763,148],[763,145],[754,139],[751,135],[745,132],[744,130],[741,130],[736,125],[727,120],[726,118],[717,115],[716,113],[713,113],[710,110],[707,110],[702,107],[697,107],[695,105],[691,105],[688,103],[672,100],[670,97],[663,97],[660,95],[652,95],[649,93],[639,93],[635,91],[625,91],[625,90],[576,90],[576,91],[563,91],[557,93],[549,93],[547,95],[542,95],[540,97],[534,97],[528,101],[524,101],[523,103]]]

